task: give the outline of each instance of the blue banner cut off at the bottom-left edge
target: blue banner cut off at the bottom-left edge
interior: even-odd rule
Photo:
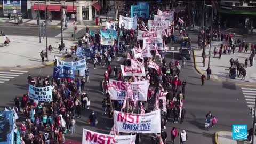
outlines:
[[[14,143],[14,121],[12,111],[0,112],[0,144]]]

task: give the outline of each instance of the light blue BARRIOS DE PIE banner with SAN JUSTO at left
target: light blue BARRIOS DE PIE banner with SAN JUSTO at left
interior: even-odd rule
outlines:
[[[52,86],[46,87],[35,87],[33,85],[28,86],[28,98],[43,101],[51,102],[52,101]]]

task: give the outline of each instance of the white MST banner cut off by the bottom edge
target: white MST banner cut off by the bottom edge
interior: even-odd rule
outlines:
[[[136,135],[107,135],[83,129],[82,144],[135,144]]]

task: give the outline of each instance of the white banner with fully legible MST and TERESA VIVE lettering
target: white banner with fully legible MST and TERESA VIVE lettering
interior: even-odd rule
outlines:
[[[160,117],[160,109],[140,115],[115,110],[114,123],[119,132],[160,133]]]

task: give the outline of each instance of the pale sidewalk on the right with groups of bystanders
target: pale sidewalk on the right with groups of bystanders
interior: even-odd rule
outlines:
[[[219,54],[217,53],[216,57],[213,53],[214,47],[211,48],[211,61],[210,61],[210,68],[212,70],[211,78],[217,79],[219,81],[226,81],[226,82],[232,82],[237,83],[240,85],[256,85],[256,66],[248,67],[246,68],[247,75],[245,77],[245,81],[241,81],[242,77],[237,77],[235,79],[231,79],[229,75],[229,67],[230,62],[229,60],[233,58],[236,60],[238,58],[239,63],[244,63],[246,58],[249,58],[250,56],[250,50],[247,53],[238,53],[238,47],[235,50],[235,54],[222,54],[221,59],[219,59]],[[218,48],[219,50],[219,48]],[[206,69],[208,68],[208,60],[209,60],[209,49],[206,49],[206,61],[205,61],[205,67],[203,67],[203,58],[202,58],[202,50],[194,50],[194,62],[195,67],[198,73],[201,75],[204,73],[206,75]]]

